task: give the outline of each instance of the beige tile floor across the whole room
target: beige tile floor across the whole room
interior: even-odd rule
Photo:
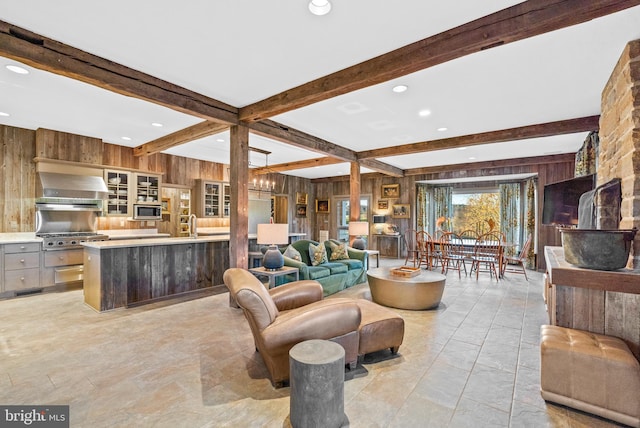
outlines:
[[[351,426],[615,426],[540,398],[546,312],[529,278],[450,272],[437,310],[398,311],[399,356],[345,382]],[[282,427],[289,388],[272,388],[227,293],[96,313],[74,290],[0,301],[0,403],[68,404],[72,427]]]

